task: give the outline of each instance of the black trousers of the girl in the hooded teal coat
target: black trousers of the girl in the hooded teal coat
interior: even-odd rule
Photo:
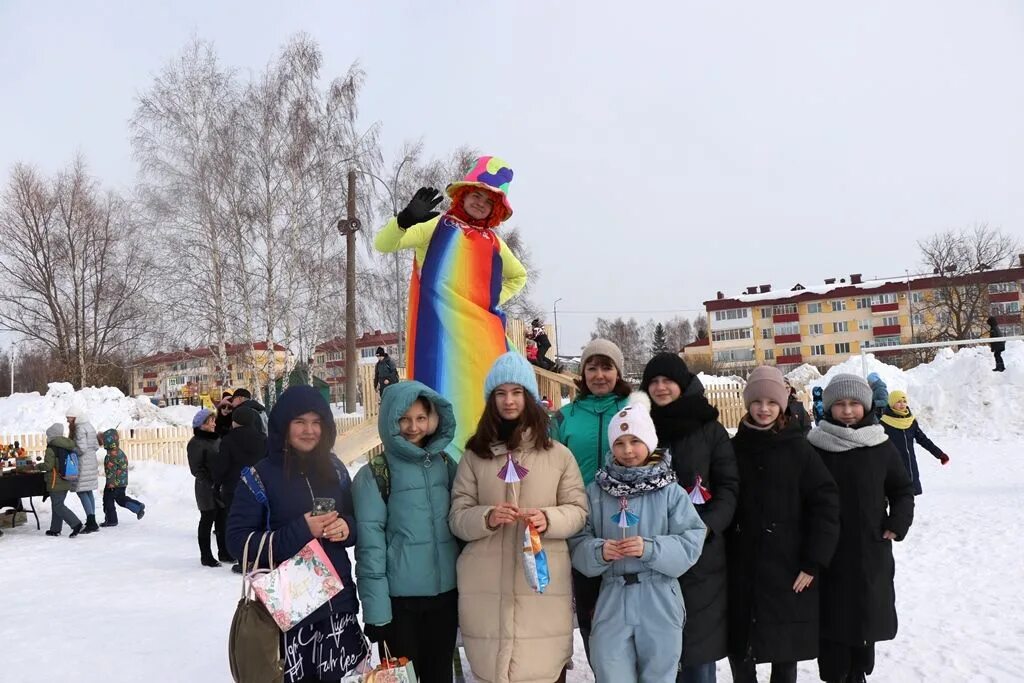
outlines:
[[[459,593],[427,598],[391,598],[393,657],[409,657],[420,683],[452,683],[452,658],[459,629]],[[384,647],[378,644],[384,658]]]

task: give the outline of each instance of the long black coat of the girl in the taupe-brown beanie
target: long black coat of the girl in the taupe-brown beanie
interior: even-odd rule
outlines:
[[[755,661],[818,655],[818,581],[839,542],[839,489],[796,421],[740,425],[732,439],[739,505],[726,537],[729,654]],[[801,593],[801,571],[815,581]]]

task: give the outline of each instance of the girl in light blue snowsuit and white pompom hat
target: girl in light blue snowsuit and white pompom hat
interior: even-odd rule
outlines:
[[[577,570],[601,577],[590,636],[597,680],[673,683],[686,616],[679,577],[707,529],[669,457],[655,452],[649,404],[637,400],[611,418],[608,464],[587,487],[590,517],[569,546]]]

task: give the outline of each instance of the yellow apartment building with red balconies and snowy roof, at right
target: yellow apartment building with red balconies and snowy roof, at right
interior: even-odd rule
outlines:
[[[947,316],[941,305],[950,292],[980,292],[979,323],[994,315],[1005,335],[1020,335],[1024,255],[1020,267],[964,275],[928,273],[864,281],[854,273],[822,285],[748,287],[705,302],[715,365],[741,372],[762,364],[784,371],[802,364],[829,368],[852,354],[894,355],[887,346],[931,336]]]

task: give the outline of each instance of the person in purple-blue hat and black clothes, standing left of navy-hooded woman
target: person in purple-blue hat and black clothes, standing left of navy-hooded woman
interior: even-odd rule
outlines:
[[[196,477],[196,506],[199,508],[199,553],[203,566],[219,567],[220,562],[233,562],[224,538],[224,506],[214,485],[213,472],[219,457],[220,436],[216,417],[203,409],[193,418],[193,437],[186,447],[188,469]],[[210,530],[217,537],[217,556],[210,549]],[[219,558],[219,561],[218,561]]]

